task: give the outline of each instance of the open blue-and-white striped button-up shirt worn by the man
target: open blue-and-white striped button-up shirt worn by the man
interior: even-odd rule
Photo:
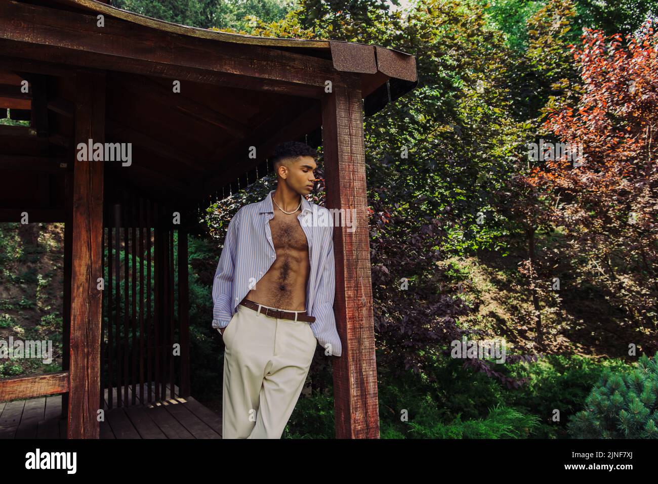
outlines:
[[[276,260],[269,223],[274,218],[272,193],[274,190],[260,202],[241,207],[228,224],[213,282],[212,326],[216,329],[228,326],[240,301]],[[306,286],[306,311],[307,315],[315,316],[315,322],[310,326],[320,346],[329,354],[340,356],[342,345],[334,318],[336,269],[333,219],[326,208],[301,198],[302,210],[297,220],[308,241],[311,263]],[[328,223],[309,223],[310,220],[323,219]]]

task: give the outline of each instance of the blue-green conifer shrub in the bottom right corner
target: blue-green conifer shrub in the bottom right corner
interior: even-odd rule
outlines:
[[[569,422],[578,439],[658,439],[658,353],[628,372],[605,369]]]

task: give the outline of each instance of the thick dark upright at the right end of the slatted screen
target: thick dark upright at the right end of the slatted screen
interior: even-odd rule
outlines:
[[[186,212],[186,217],[189,214]],[[180,334],[181,397],[190,397],[190,287],[188,280],[188,231],[178,230],[178,331]]]

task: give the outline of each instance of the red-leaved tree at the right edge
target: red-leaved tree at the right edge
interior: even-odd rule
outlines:
[[[644,331],[658,318],[657,36],[586,30],[573,49],[584,86],[577,107],[552,112],[545,128],[582,143],[582,160],[562,157],[538,174],[559,192],[572,237],[573,269],[605,290]],[[606,290],[607,289],[607,290]],[[655,334],[655,333],[654,333]],[[655,337],[654,337],[655,341]],[[655,343],[654,343],[655,344]]]

